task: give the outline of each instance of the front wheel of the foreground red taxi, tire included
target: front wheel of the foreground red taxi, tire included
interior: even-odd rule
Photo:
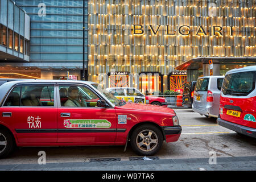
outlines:
[[[154,125],[137,127],[131,135],[131,148],[138,155],[154,155],[163,144],[163,134]]]

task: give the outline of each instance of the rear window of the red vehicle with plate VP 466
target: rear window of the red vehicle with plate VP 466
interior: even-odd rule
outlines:
[[[255,89],[256,71],[226,75],[222,93],[229,96],[247,96]]]

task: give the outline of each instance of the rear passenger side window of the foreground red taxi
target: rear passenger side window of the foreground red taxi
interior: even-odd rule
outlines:
[[[21,106],[54,106],[54,86],[22,86]]]

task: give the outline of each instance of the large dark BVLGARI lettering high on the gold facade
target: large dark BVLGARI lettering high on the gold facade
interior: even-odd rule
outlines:
[[[160,28],[165,27],[166,28],[166,35],[191,35],[191,31],[192,28],[187,26],[187,25],[182,25],[180,27],[178,27],[178,30],[171,30],[170,25],[166,25],[166,26],[162,26],[162,25],[158,25],[158,26],[152,26],[151,24],[148,25],[148,27],[151,30],[151,33],[153,35],[157,35],[158,31]],[[212,31],[210,31],[209,28],[212,28]],[[205,28],[203,26],[197,27],[196,30],[193,30],[193,32],[196,32],[195,35],[209,35],[208,32],[211,32],[210,35],[217,35],[217,36],[223,36],[224,32],[223,32],[223,28],[221,26],[212,26],[209,27],[208,29],[205,30]],[[232,26],[227,26],[227,28],[229,28],[229,36],[233,35],[233,30],[232,30]],[[143,35],[144,34],[144,29],[143,26],[141,24],[134,24],[133,25],[133,34],[134,35]]]

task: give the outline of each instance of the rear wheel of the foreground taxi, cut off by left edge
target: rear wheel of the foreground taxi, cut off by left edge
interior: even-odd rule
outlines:
[[[13,148],[14,142],[11,134],[5,129],[0,129],[0,158],[9,155]]]

